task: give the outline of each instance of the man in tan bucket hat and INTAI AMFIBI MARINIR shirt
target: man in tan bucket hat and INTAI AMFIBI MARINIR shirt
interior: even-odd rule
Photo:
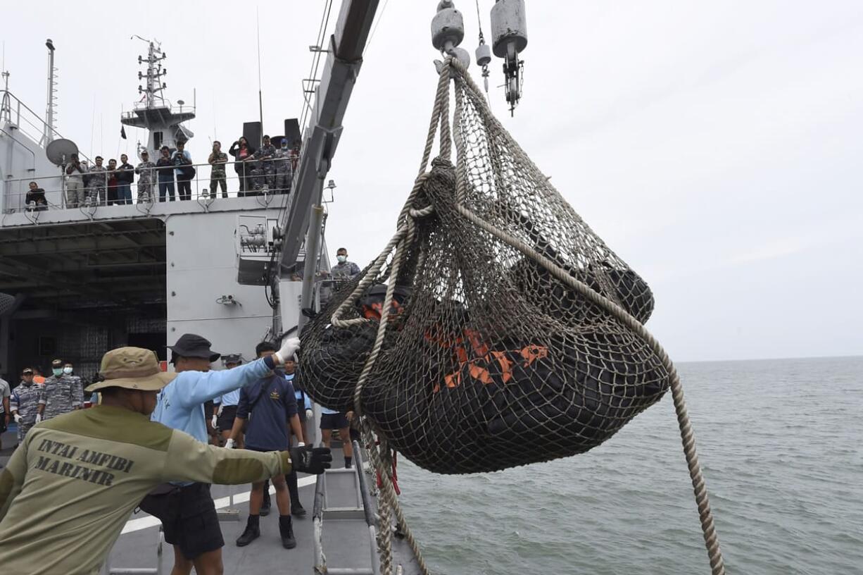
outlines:
[[[109,351],[100,373],[104,381],[87,390],[99,390],[102,403],[37,424],[0,473],[5,571],[99,572],[129,513],[160,483],[251,483],[330,466],[326,449],[230,450],[150,421],[157,393],[174,377],[153,351]]]

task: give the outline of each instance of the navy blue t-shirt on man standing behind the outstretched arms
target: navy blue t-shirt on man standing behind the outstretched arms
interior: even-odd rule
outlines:
[[[264,389],[249,417],[249,404]],[[288,421],[297,414],[293,385],[282,374],[264,377],[240,389],[236,417],[249,420],[246,446],[261,451],[284,451],[290,445]]]

